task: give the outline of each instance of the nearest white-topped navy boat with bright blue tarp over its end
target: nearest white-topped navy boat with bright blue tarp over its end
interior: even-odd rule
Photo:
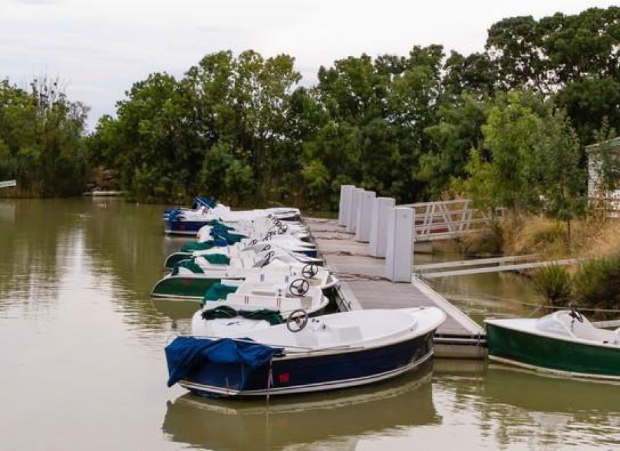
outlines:
[[[286,324],[241,337],[177,337],[166,348],[168,385],[202,396],[264,397],[382,381],[431,359],[445,318],[433,307],[291,314]]]

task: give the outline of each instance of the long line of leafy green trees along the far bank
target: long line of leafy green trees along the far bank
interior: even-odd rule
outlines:
[[[457,190],[519,210],[544,198],[570,217],[585,192],[584,147],[620,129],[619,61],[617,7],[503,19],[469,55],[431,45],[340,59],[311,87],[289,55],[223,51],[183,77],[134,83],[90,134],[81,103],[43,96],[39,108],[41,90],[5,81],[0,179],[68,194],[104,166],[139,201],[200,192],[334,208],[353,183],[399,201]]]

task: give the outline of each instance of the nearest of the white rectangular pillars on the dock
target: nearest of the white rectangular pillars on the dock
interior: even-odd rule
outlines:
[[[413,208],[391,208],[387,217],[385,277],[411,283],[413,271]]]

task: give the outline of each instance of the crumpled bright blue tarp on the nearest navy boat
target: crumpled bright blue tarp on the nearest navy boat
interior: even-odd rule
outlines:
[[[205,363],[244,363],[251,368],[258,368],[269,363],[273,356],[281,351],[260,343],[233,339],[176,337],[166,346],[168,386],[172,387]]]

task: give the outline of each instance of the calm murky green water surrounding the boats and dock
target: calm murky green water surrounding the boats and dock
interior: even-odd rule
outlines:
[[[148,296],[165,254],[161,207],[0,200],[1,450],[611,450],[620,387],[478,361],[271,401],[166,388],[163,347],[193,307]],[[437,288],[482,318],[519,314],[524,281]]]

